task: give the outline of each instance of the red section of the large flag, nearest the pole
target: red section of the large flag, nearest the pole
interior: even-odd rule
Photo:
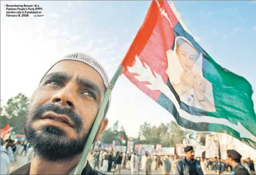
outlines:
[[[166,1],[158,1],[160,7],[164,12],[169,13],[168,17],[174,27],[178,20],[173,14],[169,4]],[[121,65],[124,66],[124,75],[135,84],[146,95],[154,99],[158,99],[161,94],[160,91],[152,91],[145,86],[148,82],[140,82],[134,76],[136,73],[130,73],[127,66],[132,67],[135,63],[135,56],[137,55],[141,62],[146,63],[151,70],[157,72],[167,82],[167,56],[166,51],[171,49],[174,42],[173,28],[171,27],[167,18],[161,14],[158,3],[151,2],[151,6],[146,14],[142,26],[140,27],[133,43]]]

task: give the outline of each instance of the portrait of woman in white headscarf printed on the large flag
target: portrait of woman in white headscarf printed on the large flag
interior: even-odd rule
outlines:
[[[212,84],[203,77],[202,53],[188,39],[177,36],[173,50],[167,50],[166,55],[166,74],[181,101],[189,106],[214,112]]]

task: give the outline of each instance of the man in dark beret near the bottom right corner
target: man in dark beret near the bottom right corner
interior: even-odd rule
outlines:
[[[232,175],[249,175],[246,168],[241,165],[241,154],[233,149],[227,150],[227,163],[232,166]]]

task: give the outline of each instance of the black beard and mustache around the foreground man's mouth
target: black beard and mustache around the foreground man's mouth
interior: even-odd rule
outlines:
[[[38,133],[31,125],[35,119],[39,119],[44,112],[66,114],[74,123],[78,139],[70,139],[66,132],[55,126],[44,126]],[[83,152],[88,133],[84,131],[83,122],[79,115],[68,108],[60,108],[58,105],[42,105],[35,110],[28,110],[25,116],[24,132],[26,139],[34,148],[35,155],[47,161],[68,161]]]

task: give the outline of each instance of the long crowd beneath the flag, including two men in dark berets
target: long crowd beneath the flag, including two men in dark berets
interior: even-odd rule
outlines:
[[[241,155],[232,150],[228,151],[228,158],[200,158],[194,157],[193,147],[185,148],[186,156],[179,157],[169,155],[150,155],[128,153],[119,151],[91,150],[93,168],[98,168],[102,172],[118,173],[122,169],[128,169],[132,175],[144,174],[151,175],[151,170],[160,170],[162,175],[206,175],[215,172],[216,175],[230,172],[231,174],[241,170],[244,175],[246,172],[250,175],[255,175],[254,162],[247,158],[241,159]]]

